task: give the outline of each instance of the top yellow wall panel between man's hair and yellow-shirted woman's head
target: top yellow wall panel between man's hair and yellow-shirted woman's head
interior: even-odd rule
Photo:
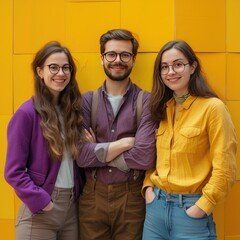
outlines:
[[[131,29],[140,52],[157,52],[174,39],[174,0],[122,0],[121,27]]]

